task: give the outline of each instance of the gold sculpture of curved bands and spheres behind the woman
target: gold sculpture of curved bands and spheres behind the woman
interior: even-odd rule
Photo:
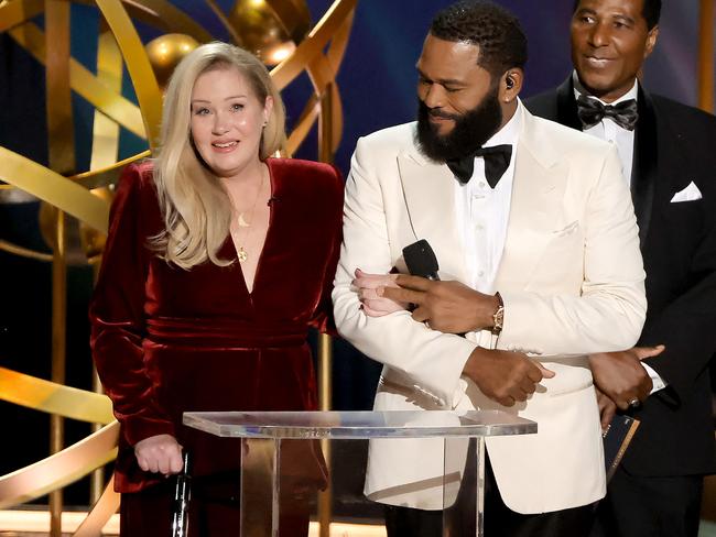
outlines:
[[[303,73],[313,88],[289,135],[292,155],[318,123],[318,155],[332,162],[340,142],[343,108],[336,84],[357,0],[336,0],[312,26],[304,0],[237,0],[223,11],[202,0],[231,40],[273,66],[283,90]],[[88,68],[69,54],[72,3],[95,6],[100,14],[97,65]],[[37,24],[44,15],[44,31]],[[141,21],[161,35],[143,43],[135,29]],[[86,31],[86,29],[84,30]],[[51,496],[52,534],[59,535],[62,495],[66,484],[89,474],[116,456],[118,425],[109,399],[98,393],[64,385],[66,328],[66,266],[97,266],[107,233],[112,186],[128,163],[151,155],[159,140],[162,94],[176,63],[199,43],[215,36],[167,0],[0,0],[0,33],[7,32],[45,66],[48,166],[0,146],[0,204],[42,201],[42,234],[52,254],[0,239],[0,250],[51,262],[53,266],[52,382],[0,368],[0,399],[53,415],[51,457],[0,476],[0,508]],[[122,96],[122,72],[129,73],[137,101]],[[70,96],[94,107],[89,169],[76,169]],[[147,141],[148,150],[118,161],[120,129]],[[324,406],[329,405],[329,341],[322,340]],[[83,441],[64,447],[63,418],[97,424]],[[111,481],[75,535],[99,531],[117,509]],[[322,531],[323,533],[323,531]],[[326,534],[327,535],[327,534]]]

